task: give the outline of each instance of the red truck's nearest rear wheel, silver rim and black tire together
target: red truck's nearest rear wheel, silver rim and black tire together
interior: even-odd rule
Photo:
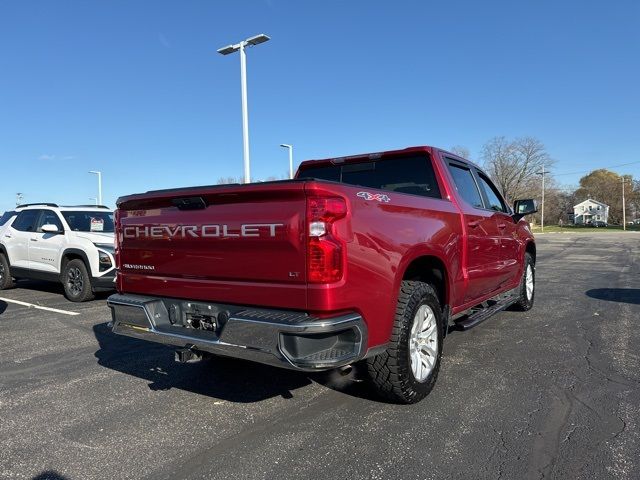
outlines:
[[[382,396],[416,403],[429,394],[440,370],[442,322],[435,290],[423,282],[402,282],[390,345],[367,360],[371,381]]]

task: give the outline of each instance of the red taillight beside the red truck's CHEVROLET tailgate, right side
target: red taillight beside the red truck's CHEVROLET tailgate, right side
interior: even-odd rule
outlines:
[[[330,283],[344,274],[344,247],[334,231],[333,222],[347,214],[347,203],[340,197],[307,199],[307,280]]]

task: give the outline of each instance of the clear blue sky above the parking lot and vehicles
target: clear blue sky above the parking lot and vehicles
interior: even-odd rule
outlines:
[[[640,161],[640,2],[3,1],[0,212],[296,163],[531,135],[554,171]],[[640,163],[616,169],[640,176]],[[557,180],[577,183],[579,174]]]

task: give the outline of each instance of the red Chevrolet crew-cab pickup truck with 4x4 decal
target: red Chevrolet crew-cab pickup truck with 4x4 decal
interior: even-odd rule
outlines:
[[[449,328],[531,308],[536,247],[476,165],[434,147],[306,161],[293,180],[118,200],[118,334],[302,371],[363,361],[433,388]]]

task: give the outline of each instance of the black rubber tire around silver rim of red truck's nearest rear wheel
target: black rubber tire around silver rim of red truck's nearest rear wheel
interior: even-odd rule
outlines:
[[[427,305],[435,317],[437,354],[435,363],[422,381],[413,373],[410,358],[411,328],[421,306]],[[440,370],[443,315],[435,290],[428,284],[403,281],[400,286],[391,343],[381,354],[367,359],[367,370],[376,391],[397,403],[416,403],[433,389]]]

